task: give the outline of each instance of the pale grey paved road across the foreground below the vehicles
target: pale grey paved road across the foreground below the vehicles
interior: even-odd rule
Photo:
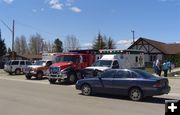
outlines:
[[[0,115],[164,115],[166,99],[180,99],[180,79],[169,95],[133,102],[110,95],[83,96],[74,85],[50,85],[0,72]]]

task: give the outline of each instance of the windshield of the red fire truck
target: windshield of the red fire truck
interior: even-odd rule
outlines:
[[[64,55],[64,56],[59,56],[57,57],[57,62],[74,62],[74,63],[79,63],[80,58],[78,56],[69,56],[69,55]]]

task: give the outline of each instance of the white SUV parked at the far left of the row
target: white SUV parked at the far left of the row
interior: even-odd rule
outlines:
[[[10,60],[4,66],[4,71],[8,72],[10,75],[15,73],[19,75],[23,72],[23,68],[32,65],[28,60]]]

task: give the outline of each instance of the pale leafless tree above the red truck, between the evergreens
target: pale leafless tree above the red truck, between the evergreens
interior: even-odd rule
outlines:
[[[64,42],[64,49],[65,51],[68,50],[77,50],[79,49],[79,40],[74,35],[68,35]]]

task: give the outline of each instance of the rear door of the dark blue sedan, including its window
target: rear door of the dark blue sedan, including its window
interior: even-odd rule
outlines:
[[[128,70],[119,70],[113,78],[113,91],[115,94],[126,95],[132,83],[131,73]]]

